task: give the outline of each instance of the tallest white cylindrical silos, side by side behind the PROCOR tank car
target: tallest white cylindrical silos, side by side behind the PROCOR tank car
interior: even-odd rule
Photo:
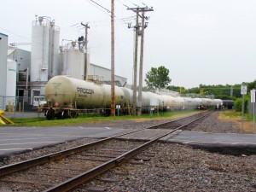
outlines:
[[[49,17],[32,21],[31,81],[47,82],[58,73],[60,29]]]

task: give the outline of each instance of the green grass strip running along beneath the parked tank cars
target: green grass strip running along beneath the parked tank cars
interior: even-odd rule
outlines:
[[[183,112],[167,112],[167,113],[154,113],[152,116],[150,114],[143,114],[142,116],[109,116],[102,117],[99,115],[81,115],[75,119],[54,119],[47,120],[45,117],[38,118],[11,118],[15,123],[14,126],[56,126],[56,125],[82,125],[88,123],[97,123],[104,121],[113,121],[113,120],[152,120],[152,119],[172,119],[184,115],[189,115],[195,113],[195,111],[183,111]]]

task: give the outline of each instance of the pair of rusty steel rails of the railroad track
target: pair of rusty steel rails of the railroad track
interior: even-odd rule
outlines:
[[[198,115],[198,113],[196,115]],[[195,116],[195,114],[189,115],[188,117],[180,118],[180,119],[187,119],[192,116]],[[206,115],[204,115],[204,116],[206,116]],[[201,118],[203,118],[204,116],[202,116]],[[201,118],[199,118],[199,119],[201,119]],[[197,119],[195,119],[195,120],[197,120]],[[192,122],[194,122],[195,120],[193,120]],[[168,123],[172,123],[173,121],[175,121],[175,120],[169,121]],[[189,123],[192,123],[192,122],[189,122]],[[186,125],[189,125],[189,123]],[[166,124],[166,123],[164,123],[164,124]],[[186,126],[186,125],[183,125],[183,126]],[[69,191],[71,189],[75,189],[79,184],[88,182],[92,178],[102,174],[103,172],[107,172],[109,169],[122,163],[123,161],[131,159],[132,156],[140,153],[144,148],[148,148],[151,143],[154,143],[155,141],[159,140],[161,137],[165,137],[165,136],[171,134],[172,132],[177,131],[178,129],[181,129],[183,126],[180,126],[177,129],[174,129],[172,131],[168,131],[167,133],[161,135],[160,137],[156,137],[156,138],[150,140],[149,142],[144,143],[143,145],[139,146],[138,148],[134,148],[133,150],[126,152],[125,154],[122,154],[119,157],[102,164],[102,166],[97,166],[88,172],[84,172],[77,177],[73,177],[73,178],[67,180],[67,182],[61,183],[61,184],[59,184],[51,189],[47,189],[45,191]],[[151,127],[148,127],[148,128],[151,128]],[[135,131],[128,131],[128,132],[125,132],[125,133],[122,133],[119,135],[113,135],[108,138],[104,138],[100,141],[87,143],[87,144],[84,144],[84,145],[81,145],[81,146],[78,146],[75,148],[69,148],[67,150],[63,150],[63,151],[60,151],[60,152],[57,152],[54,154],[44,155],[42,157],[38,157],[38,158],[35,158],[32,160],[22,161],[22,162],[12,164],[9,166],[3,166],[3,167],[0,167],[0,177],[4,177],[4,176],[7,176],[7,175],[15,173],[15,172],[20,172],[20,171],[26,170],[28,168],[31,168],[32,166],[42,165],[42,164],[45,164],[45,163],[53,161],[53,160],[60,160],[69,155],[78,154],[78,153],[84,151],[85,149],[95,146],[96,144],[101,144],[101,143],[107,142],[111,139],[114,139],[117,137],[122,137],[122,136],[131,134],[131,133],[134,133],[137,131],[143,131],[148,128],[141,128],[141,129],[137,129]]]

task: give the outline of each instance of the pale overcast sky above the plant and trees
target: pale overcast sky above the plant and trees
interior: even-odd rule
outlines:
[[[84,35],[88,23],[90,62],[111,68],[110,0],[0,0],[0,33],[9,44],[30,50],[32,20],[49,16],[60,26],[61,39]],[[147,12],[143,79],[151,67],[164,66],[170,85],[241,84],[256,79],[255,0],[115,0],[115,74],[133,82],[135,13]],[[140,39],[139,39],[140,42]],[[140,48],[139,48],[140,49]],[[139,57],[138,57],[139,58]],[[139,66],[139,62],[138,62]],[[143,83],[145,85],[145,83]]]

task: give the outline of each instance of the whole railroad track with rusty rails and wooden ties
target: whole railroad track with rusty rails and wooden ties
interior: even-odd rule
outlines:
[[[208,112],[198,113],[149,127],[150,129],[167,130],[160,132],[148,141],[118,139],[148,129],[143,128],[33,160],[3,166],[0,168],[0,187],[15,191],[70,191],[76,189],[80,184],[89,182],[109,169],[131,160],[132,157],[160,138],[183,129],[208,114]]]

